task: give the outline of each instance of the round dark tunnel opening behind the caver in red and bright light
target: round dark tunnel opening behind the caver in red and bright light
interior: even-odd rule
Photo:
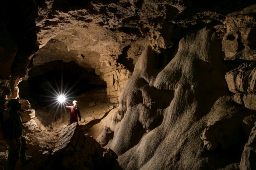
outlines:
[[[64,106],[72,106],[73,100],[78,101],[82,118],[97,117],[110,103],[106,98],[106,82],[91,70],[74,61],[62,60],[34,66],[28,78],[18,84],[19,97],[27,99],[40,122],[51,128],[56,121],[56,125],[68,123],[69,111]],[[58,103],[54,94],[66,94],[66,104]]]

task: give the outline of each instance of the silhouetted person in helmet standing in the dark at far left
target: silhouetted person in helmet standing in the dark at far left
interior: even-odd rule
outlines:
[[[9,100],[7,106],[10,117],[6,122],[5,138],[10,147],[6,170],[15,170],[19,157],[22,165],[24,165],[31,160],[31,156],[26,156],[28,143],[25,137],[22,137],[23,124],[18,112],[22,107],[19,99]]]

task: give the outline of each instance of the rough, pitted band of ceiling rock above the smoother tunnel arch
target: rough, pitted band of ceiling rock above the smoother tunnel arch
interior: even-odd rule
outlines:
[[[172,32],[173,24],[169,21],[179,12],[169,4],[148,0],[66,1],[64,3],[55,0],[42,4],[39,11],[37,26],[41,29],[38,33],[40,47],[51,38],[62,34],[62,31],[68,27],[77,25],[87,28],[86,32],[90,34],[90,39],[106,41],[105,43],[109,44],[108,39],[104,37],[112,37],[118,44],[129,44],[141,38],[148,38],[156,50],[172,45],[171,40],[163,36]],[[162,29],[163,25],[165,31]],[[99,38],[98,33],[102,37]]]

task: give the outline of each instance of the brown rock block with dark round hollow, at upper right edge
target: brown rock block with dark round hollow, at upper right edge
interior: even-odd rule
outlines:
[[[255,5],[228,14],[224,20],[227,33],[222,41],[225,60],[255,61],[255,25],[250,12],[255,11]]]

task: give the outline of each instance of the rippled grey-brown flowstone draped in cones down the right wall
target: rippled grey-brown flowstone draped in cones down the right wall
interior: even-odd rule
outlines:
[[[242,123],[255,112],[235,104],[228,93],[222,49],[214,48],[220,44],[211,30],[203,28],[181,39],[165,64],[157,63],[158,55],[147,46],[118,99],[117,111],[92,127],[95,134],[104,126],[115,132],[105,147],[118,154],[122,168],[237,168],[228,165],[240,158],[242,147],[236,154],[231,150],[244,145]],[[221,157],[212,156],[204,150],[204,141],[198,141],[205,127],[206,149],[216,149]]]

